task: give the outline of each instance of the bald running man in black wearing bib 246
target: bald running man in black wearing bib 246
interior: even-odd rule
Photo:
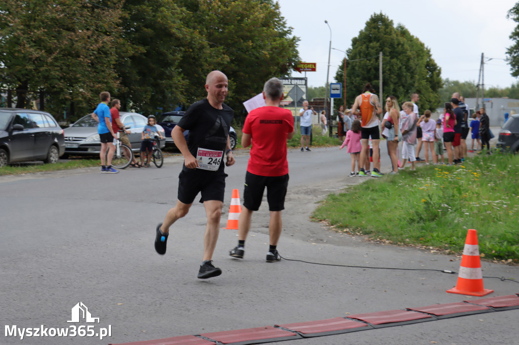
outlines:
[[[214,70],[207,76],[207,98],[200,100],[187,109],[186,113],[173,128],[171,137],[184,156],[184,165],[179,175],[178,200],[175,207],[156,228],[155,250],[166,253],[169,228],[176,220],[184,217],[201,193],[207,214],[206,233],[203,236],[204,250],[198,278],[206,279],[220,276],[222,270],[212,265],[212,256],[220,229],[220,218],[224,202],[225,165],[235,163],[230,149],[229,127],[234,111],[224,104],[228,92],[227,77]],[[184,131],[189,130],[189,145]]]

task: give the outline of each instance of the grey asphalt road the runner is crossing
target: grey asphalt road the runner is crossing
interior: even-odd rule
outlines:
[[[389,171],[385,148],[383,172]],[[348,178],[349,157],[338,147],[289,151],[290,190],[279,251],[315,263],[447,269],[460,258],[411,247],[379,245],[335,233],[309,215]],[[242,193],[248,152],[237,153],[229,174],[222,227],[231,192]],[[155,225],[176,200],[180,157],[157,169],[98,168],[0,177],[0,344],[107,344],[150,340],[342,317],[354,313],[444,304],[477,297],[447,294],[456,276],[323,266],[283,260],[266,263],[268,209],[253,216],[244,260],[228,256],[235,230],[222,229],[213,257],[220,277],[196,278],[206,216],[196,203],[172,228],[168,252],[155,253]],[[371,179],[371,178],[370,178]],[[265,202],[266,203],[266,202]],[[519,279],[519,267],[483,262],[483,275]],[[519,284],[485,279],[490,296],[519,293]],[[111,337],[6,336],[5,326],[69,327],[82,302],[95,332]],[[519,311],[502,311],[343,335],[282,342],[310,344],[511,344]],[[82,323],[85,325],[85,323]]]

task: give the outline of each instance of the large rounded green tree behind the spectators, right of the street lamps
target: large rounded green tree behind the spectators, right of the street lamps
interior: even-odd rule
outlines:
[[[402,103],[416,92],[420,95],[420,109],[436,107],[438,90],[442,87],[441,69],[432,59],[430,49],[403,25],[395,27],[383,13],[374,13],[370,17],[347,50],[348,107],[367,82],[375,90],[379,89],[379,52],[383,53],[383,97],[394,95]],[[337,82],[344,81],[343,66],[339,66],[335,74]],[[336,104],[344,104],[344,99]]]

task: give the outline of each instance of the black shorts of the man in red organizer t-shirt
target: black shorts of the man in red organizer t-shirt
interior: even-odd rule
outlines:
[[[245,174],[245,188],[243,190],[243,206],[251,211],[260,209],[263,192],[267,187],[267,202],[269,211],[282,211],[285,209],[286,189],[289,185],[289,175],[260,176]]]

